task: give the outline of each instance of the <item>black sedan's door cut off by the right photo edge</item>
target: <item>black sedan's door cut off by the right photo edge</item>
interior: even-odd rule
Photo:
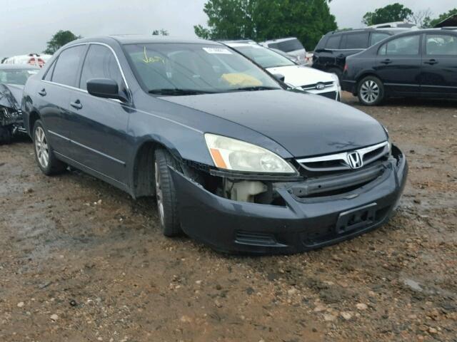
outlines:
[[[425,33],[423,36],[423,95],[457,96],[457,35]]]

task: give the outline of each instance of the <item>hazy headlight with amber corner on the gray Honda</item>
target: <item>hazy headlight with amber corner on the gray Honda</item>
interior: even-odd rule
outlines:
[[[293,167],[275,153],[248,142],[205,134],[214,165],[220,169],[256,173],[296,173]]]

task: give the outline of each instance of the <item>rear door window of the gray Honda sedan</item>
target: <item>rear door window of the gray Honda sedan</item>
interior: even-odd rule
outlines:
[[[52,81],[66,86],[76,86],[78,68],[83,57],[85,45],[74,46],[62,51],[54,67]]]

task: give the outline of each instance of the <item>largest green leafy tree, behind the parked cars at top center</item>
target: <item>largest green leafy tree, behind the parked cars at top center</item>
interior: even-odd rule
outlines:
[[[337,28],[327,0],[209,0],[204,12],[208,28],[194,26],[204,39],[263,41],[296,36],[312,49],[323,34]]]

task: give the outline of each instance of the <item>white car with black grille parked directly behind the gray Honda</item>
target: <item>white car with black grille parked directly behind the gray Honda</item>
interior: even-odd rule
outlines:
[[[324,73],[314,68],[300,66],[280,53],[251,41],[224,41],[223,43],[262,66],[269,73],[284,76],[284,83],[288,86],[333,100],[341,100],[341,86],[338,76],[334,73]]]

